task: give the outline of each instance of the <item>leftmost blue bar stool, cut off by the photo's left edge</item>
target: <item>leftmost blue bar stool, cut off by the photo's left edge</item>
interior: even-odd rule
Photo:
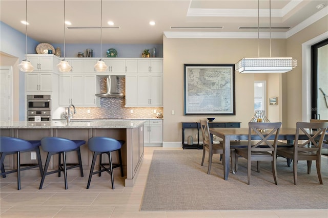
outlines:
[[[1,176],[6,177],[6,174],[17,172],[17,189],[20,190],[20,171],[39,167],[41,175],[43,175],[42,162],[40,156],[39,146],[40,141],[27,141],[24,139],[12,138],[2,136],[0,137],[0,149],[1,149]],[[37,157],[37,164],[21,164],[20,163],[20,152],[35,151]],[[6,155],[17,154],[17,169],[5,171],[4,160]],[[25,166],[24,168],[20,168]]]

